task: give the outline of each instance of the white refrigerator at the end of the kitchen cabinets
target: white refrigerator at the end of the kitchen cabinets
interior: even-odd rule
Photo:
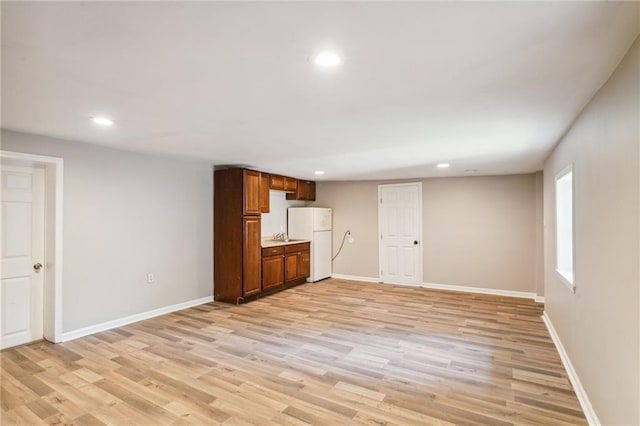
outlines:
[[[331,276],[331,209],[289,207],[289,238],[311,241],[309,282]]]

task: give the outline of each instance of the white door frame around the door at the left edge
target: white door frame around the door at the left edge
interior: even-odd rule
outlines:
[[[64,159],[22,152],[0,151],[1,160],[17,166],[44,166],[44,338],[62,341],[62,194]],[[53,266],[53,267],[51,267]]]

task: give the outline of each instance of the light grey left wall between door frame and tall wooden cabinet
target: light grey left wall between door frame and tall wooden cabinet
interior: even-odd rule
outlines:
[[[64,158],[63,332],[213,294],[209,164],[5,130],[2,149]]]

